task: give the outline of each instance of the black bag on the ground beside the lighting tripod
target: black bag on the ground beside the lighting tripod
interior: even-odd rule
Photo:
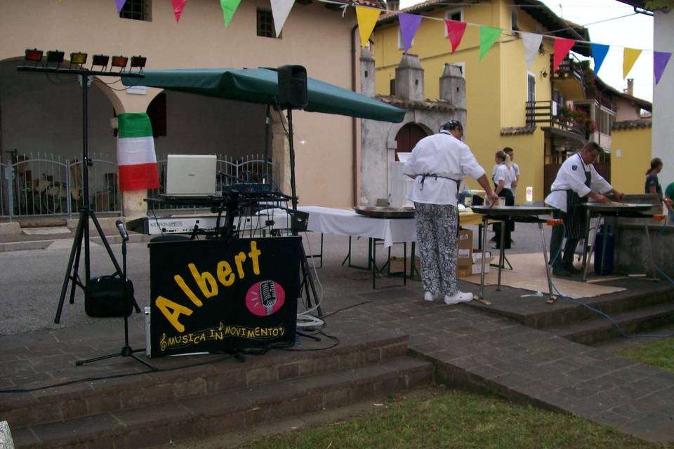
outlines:
[[[88,316],[129,316],[133,310],[133,283],[117,276],[100,276],[89,282],[88,295],[84,299],[84,311]]]

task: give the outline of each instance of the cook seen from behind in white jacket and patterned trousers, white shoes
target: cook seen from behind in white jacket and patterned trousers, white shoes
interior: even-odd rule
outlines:
[[[405,175],[416,180],[409,199],[416,209],[416,241],[421,253],[425,301],[434,301],[440,293],[444,293],[445,304],[473,300],[473,293],[463,293],[456,287],[456,203],[463,178],[469,175],[477,180],[487,192],[487,199],[498,201],[484,168],[468,145],[461,142],[462,138],[461,122],[444,123],[440,133],[419,140],[403,169]]]

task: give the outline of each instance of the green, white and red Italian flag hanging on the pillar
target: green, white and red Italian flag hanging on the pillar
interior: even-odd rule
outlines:
[[[119,189],[121,191],[156,189],[159,187],[159,176],[150,116],[145,112],[119,114],[117,126]]]

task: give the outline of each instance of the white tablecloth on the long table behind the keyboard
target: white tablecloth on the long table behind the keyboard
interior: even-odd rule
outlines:
[[[416,241],[414,218],[374,218],[355,213],[354,210],[303,206],[299,210],[309,213],[307,229],[338,236],[359,236],[381,239],[384,246],[404,241]]]

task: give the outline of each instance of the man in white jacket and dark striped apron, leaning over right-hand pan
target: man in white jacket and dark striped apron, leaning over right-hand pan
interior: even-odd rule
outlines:
[[[555,182],[550,187],[546,204],[555,208],[553,217],[564,220],[564,228],[553,227],[550,236],[550,263],[553,264],[555,276],[571,276],[578,269],[574,267],[574,253],[579,241],[586,238],[586,213],[581,206],[588,199],[600,203],[611,201],[604,194],[611,193],[616,199],[623,199],[624,194],[618,192],[597,173],[593,163],[599,159],[602,147],[596,142],[588,142],[580,152],[567,158],[557,172]],[[564,254],[560,253],[562,241]]]

